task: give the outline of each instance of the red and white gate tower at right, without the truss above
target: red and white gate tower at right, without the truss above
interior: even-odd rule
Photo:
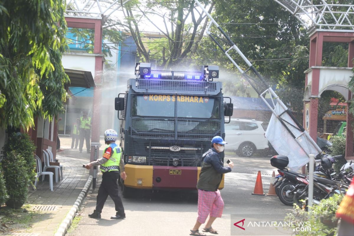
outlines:
[[[348,67],[322,67],[323,42],[347,42]],[[346,30],[316,29],[310,35],[310,60],[309,69],[306,74],[304,94],[304,127],[310,136],[316,140],[317,137],[317,116],[318,99],[326,90],[333,90],[343,95],[349,106],[349,100],[353,93],[348,89],[348,83],[353,75],[354,57],[354,32]],[[347,137],[346,157],[352,159],[353,149],[353,127],[351,124],[353,116],[347,114]]]

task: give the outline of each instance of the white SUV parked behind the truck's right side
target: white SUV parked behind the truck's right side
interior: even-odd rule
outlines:
[[[254,155],[256,150],[268,149],[268,139],[264,136],[262,123],[231,118],[230,123],[225,123],[225,141],[228,143],[225,149],[234,150],[245,157]]]

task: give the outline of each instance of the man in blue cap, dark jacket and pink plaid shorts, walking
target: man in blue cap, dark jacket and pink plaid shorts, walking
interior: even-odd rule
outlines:
[[[199,232],[199,227],[204,224],[208,215],[209,220],[206,223],[203,232],[210,232],[218,234],[212,228],[212,223],[217,217],[221,217],[224,209],[224,201],[221,198],[218,190],[221,183],[222,175],[231,172],[234,163],[230,162],[227,167],[223,166],[223,162],[219,155],[224,151],[224,144],[226,144],[222,137],[215,136],[211,140],[211,149],[203,154],[203,162],[199,174],[197,184],[198,189],[198,218],[190,235],[205,235]]]

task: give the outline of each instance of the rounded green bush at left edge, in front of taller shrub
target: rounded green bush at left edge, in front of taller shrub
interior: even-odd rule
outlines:
[[[29,182],[27,163],[16,151],[11,151],[4,156],[1,165],[9,196],[6,206],[20,208],[27,201]]]

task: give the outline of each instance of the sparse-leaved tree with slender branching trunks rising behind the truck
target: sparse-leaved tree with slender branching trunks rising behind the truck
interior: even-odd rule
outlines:
[[[207,0],[201,2],[209,9],[209,13],[216,3]],[[124,5],[123,26],[132,35],[142,61],[158,60],[161,67],[171,68],[196,53],[208,19],[195,6],[192,0],[148,1],[145,6],[142,2],[133,0]],[[144,43],[144,30],[139,26],[142,19],[160,31],[160,39],[150,40],[150,44]],[[162,22],[164,27],[156,24],[157,21]]]

